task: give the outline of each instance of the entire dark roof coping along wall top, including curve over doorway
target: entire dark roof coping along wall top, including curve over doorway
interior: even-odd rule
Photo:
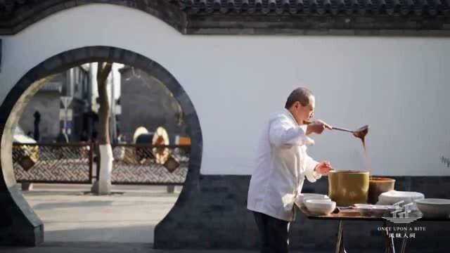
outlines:
[[[0,34],[94,3],[145,11],[181,34],[450,37],[450,0],[0,0]]]

